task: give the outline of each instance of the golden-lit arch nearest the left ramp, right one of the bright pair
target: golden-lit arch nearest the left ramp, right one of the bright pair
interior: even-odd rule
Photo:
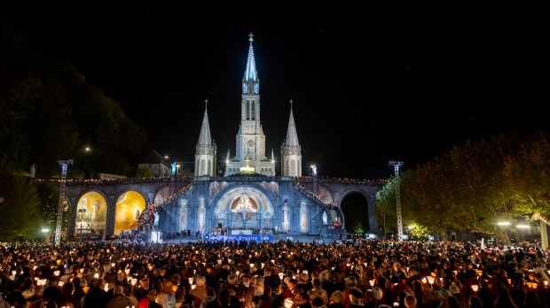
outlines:
[[[136,190],[122,193],[114,205],[114,235],[138,230],[139,214],[145,210],[145,197]]]

